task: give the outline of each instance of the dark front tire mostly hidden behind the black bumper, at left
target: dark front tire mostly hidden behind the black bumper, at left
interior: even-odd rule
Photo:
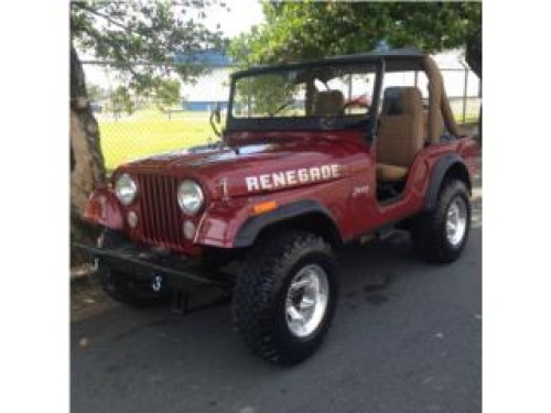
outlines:
[[[116,247],[121,242],[121,237],[111,230],[105,230],[100,237],[104,247]],[[100,258],[97,260],[99,283],[112,300],[131,307],[149,307],[164,303],[170,297],[169,291],[154,292],[150,283],[138,281],[130,273],[111,269]]]

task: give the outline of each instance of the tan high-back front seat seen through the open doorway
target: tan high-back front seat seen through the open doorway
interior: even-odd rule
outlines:
[[[417,87],[385,89],[377,135],[377,178],[401,181],[424,144],[424,116]]]

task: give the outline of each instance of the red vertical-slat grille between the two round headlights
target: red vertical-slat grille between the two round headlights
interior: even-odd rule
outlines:
[[[170,176],[138,175],[141,229],[147,241],[181,247],[177,180]]]

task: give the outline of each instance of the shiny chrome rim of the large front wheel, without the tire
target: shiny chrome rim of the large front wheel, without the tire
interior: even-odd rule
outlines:
[[[318,264],[302,268],[291,281],[285,298],[285,319],[296,337],[310,336],[322,323],[327,309],[329,283]]]

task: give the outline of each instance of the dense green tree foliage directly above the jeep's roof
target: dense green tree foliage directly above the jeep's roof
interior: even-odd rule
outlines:
[[[273,63],[372,50],[418,46],[426,53],[456,47],[482,78],[479,2],[264,2],[267,23],[231,44],[244,63]]]

